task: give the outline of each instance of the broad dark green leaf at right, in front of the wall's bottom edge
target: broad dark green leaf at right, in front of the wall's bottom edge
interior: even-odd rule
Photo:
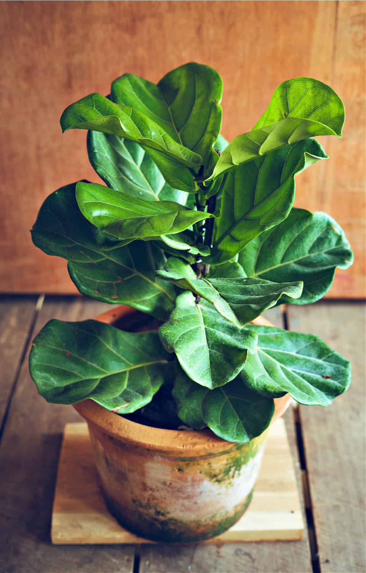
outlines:
[[[332,217],[294,208],[280,225],[251,241],[239,253],[239,262],[250,277],[274,282],[303,280],[300,298],[283,296],[279,302],[308,304],[329,291],[334,270],[337,266],[347,269],[353,253]]]

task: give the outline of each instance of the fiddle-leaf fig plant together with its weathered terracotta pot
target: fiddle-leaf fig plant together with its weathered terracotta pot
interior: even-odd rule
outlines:
[[[292,398],[328,406],[351,376],[318,337],[253,324],[319,300],[352,263],[329,215],[293,207],[296,175],[327,157],[314,136],[341,136],[343,103],[321,81],[285,81],[228,143],[221,97],[219,74],[190,63],[157,85],[124,74],[111,95],[70,105],[62,131],[88,130],[106,185],[54,191],[32,230],[83,295],[140,311],[51,320],[30,373],[88,421],[108,508],[153,540],[229,528],[274,417]]]

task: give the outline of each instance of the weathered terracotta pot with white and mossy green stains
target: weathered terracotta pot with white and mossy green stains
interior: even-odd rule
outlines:
[[[129,307],[97,316],[131,322]],[[257,319],[257,324],[270,324]],[[273,421],[289,406],[276,399]],[[202,541],[229,529],[248,507],[259,472],[266,430],[233,444],[210,430],[163,430],[105,410],[92,400],[74,408],[88,422],[107,507],[123,527],[156,541]]]

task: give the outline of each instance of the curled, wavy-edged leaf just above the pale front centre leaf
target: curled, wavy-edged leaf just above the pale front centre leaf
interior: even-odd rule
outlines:
[[[226,320],[242,327],[257,318],[262,312],[276,305],[282,295],[298,298],[302,292],[302,281],[271,282],[262,278],[245,278],[240,265],[235,265],[231,277],[227,268],[223,273],[215,273],[213,278],[196,278],[190,265],[178,258],[171,257],[156,276],[172,281],[183,289],[190,289],[214,305],[217,312]],[[243,273],[245,274],[245,273]]]

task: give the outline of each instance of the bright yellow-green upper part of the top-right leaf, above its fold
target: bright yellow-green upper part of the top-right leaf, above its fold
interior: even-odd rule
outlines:
[[[344,105],[329,85],[311,77],[296,77],[280,84],[271,97],[266,111],[254,125],[259,129],[284,119],[302,117],[328,125],[341,136],[344,124]]]

